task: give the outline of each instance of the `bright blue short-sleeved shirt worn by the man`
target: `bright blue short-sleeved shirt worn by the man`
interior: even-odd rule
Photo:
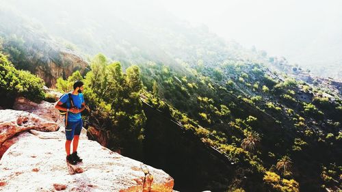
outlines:
[[[78,109],[81,109],[82,103],[84,102],[83,94],[78,94],[78,95],[71,94],[71,97],[73,98],[74,106],[77,107]],[[64,96],[60,98],[60,102],[63,102],[63,103],[66,102],[66,107],[68,109],[71,108],[68,94],[64,94]],[[81,113],[75,114],[69,111],[68,122],[78,122],[79,120],[81,120]]]

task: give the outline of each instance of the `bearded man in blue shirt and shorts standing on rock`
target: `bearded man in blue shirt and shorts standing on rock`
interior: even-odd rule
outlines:
[[[79,135],[82,129],[82,118],[81,111],[83,111],[86,107],[86,103],[83,98],[83,82],[76,81],[73,85],[73,92],[70,93],[72,100],[70,100],[69,94],[64,94],[57,101],[55,108],[61,111],[66,111],[66,161],[72,165],[76,165],[77,162],[81,162],[82,159],[77,155],[77,147],[79,145]],[[66,102],[66,107],[62,105]],[[73,153],[70,154],[70,145],[73,141]]]

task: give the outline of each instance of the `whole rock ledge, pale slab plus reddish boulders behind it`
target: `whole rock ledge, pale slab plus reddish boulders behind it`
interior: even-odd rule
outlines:
[[[84,129],[83,163],[68,165],[53,104],[18,98],[14,109],[21,110],[0,110],[0,191],[172,191],[174,180],[163,170],[88,140]]]

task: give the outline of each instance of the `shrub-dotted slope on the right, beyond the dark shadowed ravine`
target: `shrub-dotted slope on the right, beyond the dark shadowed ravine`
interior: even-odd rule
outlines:
[[[338,183],[339,95],[241,61],[186,67],[185,76],[162,64],[141,68],[150,105],[242,167],[229,189],[320,191]]]

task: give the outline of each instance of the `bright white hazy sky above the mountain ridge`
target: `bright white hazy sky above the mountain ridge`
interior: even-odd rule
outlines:
[[[285,56],[316,72],[326,66],[342,68],[342,0],[0,0],[0,5],[4,2],[36,13],[76,8],[66,12],[66,18],[75,14],[101,18],[116,12],[140,19],[142,25],[148,23],[143,14],[165,18],[169,12],[194,25],[207,25],[226,40],[246,48],[254,45],[269,56]],[[91,11],[82,12],[85,6]],[[341,78],[342,70],[339,73]]]

